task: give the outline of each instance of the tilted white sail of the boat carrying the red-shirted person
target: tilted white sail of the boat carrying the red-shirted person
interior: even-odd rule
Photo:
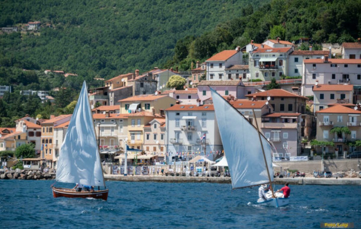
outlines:
[[[233,188],[269,183],[257,129],[212,88],[211,92]],[[262,143],[273,181],[271,146],[263,136]]]

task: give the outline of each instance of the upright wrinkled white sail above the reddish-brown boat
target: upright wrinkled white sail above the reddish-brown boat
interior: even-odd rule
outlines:
[[[61,145],[56,180],[105,186],[85,81]]]

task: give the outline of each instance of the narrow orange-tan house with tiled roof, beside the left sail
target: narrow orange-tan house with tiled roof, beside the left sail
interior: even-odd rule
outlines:
[[[51,118],[40,123],[42,127],[42,146],[40,158],[45,159],[46,166],[49,168],[54,168],[53,164],[53,153],[54,153],[54,143],[53,143],[53,129],[58,125],[61,125],[65,122],[68,122],[71,119],[71,115],[59,115],[55,117],[51,115]]]

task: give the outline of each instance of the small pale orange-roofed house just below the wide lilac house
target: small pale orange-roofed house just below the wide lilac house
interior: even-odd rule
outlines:
[[[313,87],[313,113],[329,104],[349,104],[353,99],[351,84],[316,84]],[[356,105],[353,105],[356,106]]]

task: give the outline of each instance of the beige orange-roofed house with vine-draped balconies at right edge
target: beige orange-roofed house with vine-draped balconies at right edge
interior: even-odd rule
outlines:
[[[360,140],[361,138],[361,111],[342,105],[335,105],[316,111],[316,115],[316,139],[318,141],[332,141],[335,144],[333,147],[325,147],[326,153],[334,153],[336,151],[337,154],[341,156],[344,150],[353,150],[352,147],[348,146],[348,142]],[[332,129],[336,127],[345,127],[345,129],[349,130],[349,133],[345,131],[332,131]],[[322,149],[318,149],[318,151],[321,150]]]

